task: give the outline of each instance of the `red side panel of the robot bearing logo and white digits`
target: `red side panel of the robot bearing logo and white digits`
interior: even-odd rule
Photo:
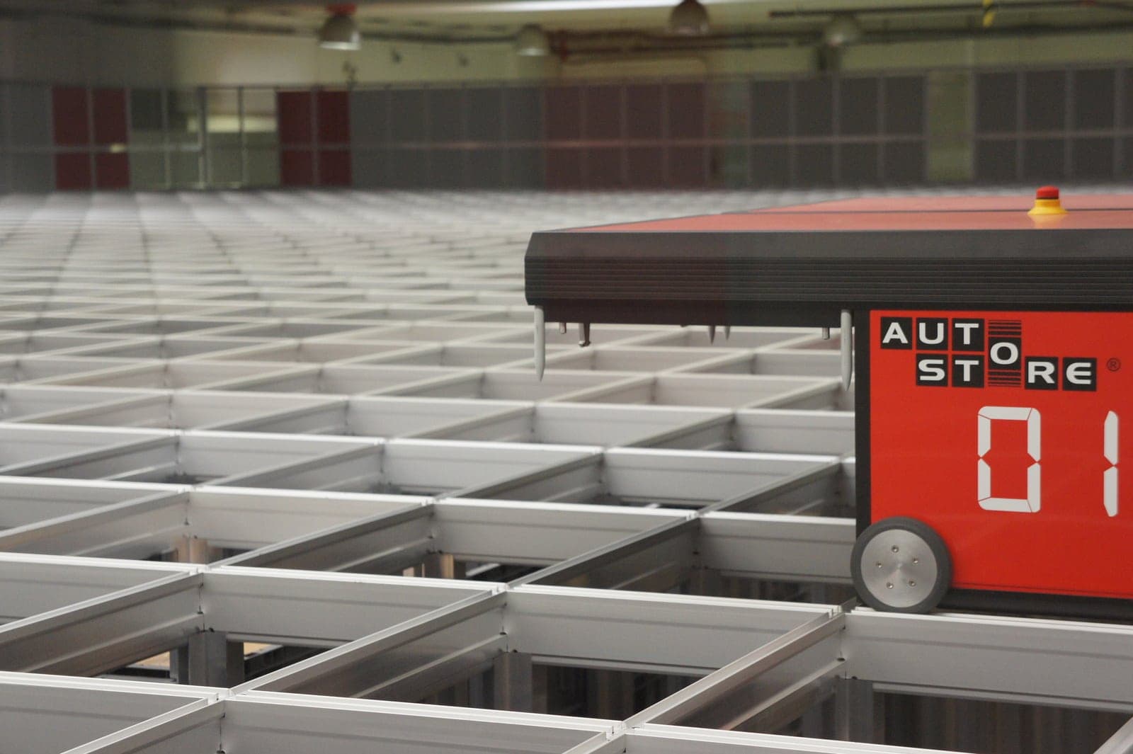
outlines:
[[[869,333],[871,522],[932,526],[957,589],[1133,598],[1133,314],[872,311]]]

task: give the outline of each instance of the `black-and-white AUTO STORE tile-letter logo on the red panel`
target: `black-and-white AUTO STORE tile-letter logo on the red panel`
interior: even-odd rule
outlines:
[[[976,317],[881,317],[883,349],[915,351],[918,385],[1097,391],[1098,360],[1023,353],[1023,323]]]

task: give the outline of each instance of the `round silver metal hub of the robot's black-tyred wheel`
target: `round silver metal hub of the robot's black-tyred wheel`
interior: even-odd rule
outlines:
[[[880,602],[894,608],[925,600],[937,579],[937,562],[921,537],[904,529],[879,532],[861,555],[861,579]]]

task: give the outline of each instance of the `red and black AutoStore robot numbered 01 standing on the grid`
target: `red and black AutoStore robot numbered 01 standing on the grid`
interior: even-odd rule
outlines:
[[[1133,196],[849,199],[535,233],[544,323],[841,327],[869,606],[1133,615]],[[851,336],[851,332],[853,335]]]

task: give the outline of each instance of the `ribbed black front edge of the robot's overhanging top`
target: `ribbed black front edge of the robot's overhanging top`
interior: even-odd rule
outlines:
[[[545,233],[528,248],[527,299],[632,302],[658,323],[690,305],[1133,309],[1130,249],[1133,232],[1116,230]]]

